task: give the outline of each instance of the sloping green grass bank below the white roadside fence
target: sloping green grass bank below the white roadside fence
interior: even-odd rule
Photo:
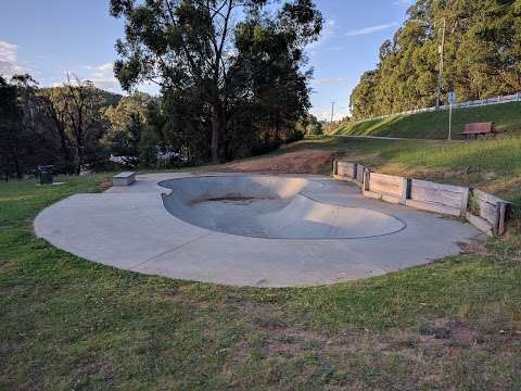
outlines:
[[[453,138],[461,138],[460,134],[466,124],[480,122],[494,122],[499,130],[519,135],[521,134],[521,102],[454,110]],[[334,128],[331,134],[443,140],[448,136],[448,111],[398,115],[357,124],[344,123]]]

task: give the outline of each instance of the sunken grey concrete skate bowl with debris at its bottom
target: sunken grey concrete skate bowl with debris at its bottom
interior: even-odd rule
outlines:
[[[165,209],[191,225],[265,239],[333,240],[392,235],[406,225],[361,207],[317,202],[320,181],[297,177],[216,176],[165,180]]]

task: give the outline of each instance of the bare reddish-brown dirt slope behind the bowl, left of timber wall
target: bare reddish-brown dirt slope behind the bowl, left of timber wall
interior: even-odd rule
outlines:
[[[330,172],[335,153],[331,151],[305,150],[278,156],[260,157],[219,167],[225,173],[263,174],[323,174]]]

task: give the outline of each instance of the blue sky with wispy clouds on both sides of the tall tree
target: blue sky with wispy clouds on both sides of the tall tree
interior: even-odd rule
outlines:
[[[109,0],[0,0],[0,74],[29,73],[40,86],[56,86],[66,73],[122,92],[112,64],[124,22],[109,14]],[[316,0],[325,16],[320,39],[307,48],[312,113],[319,119],[348,115],[350,94],[374,68],[381,43],[404,22],[412,0]],[[144,91],[157,92],[143,86]]]

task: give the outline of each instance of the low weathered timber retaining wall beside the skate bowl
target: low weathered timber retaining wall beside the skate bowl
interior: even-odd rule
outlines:
[[[356,184],[365,197],[467,219],[488,236],[503,235],[511,203],[478,189],[372,173],[334,161],[333,177]]]

